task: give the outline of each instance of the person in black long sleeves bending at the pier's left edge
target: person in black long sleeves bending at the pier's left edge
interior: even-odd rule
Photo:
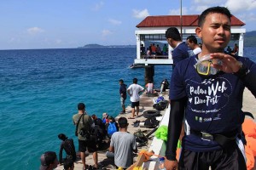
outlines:
[[[73,144],[73,139],[67,139],[67,136],[63,133],[58,135],[58,138],[62,140],[60,152],[59,152],[59,161],[62,163],[62,150],[66,151],[66,159],[71,159],[76,161],[76,150]]]

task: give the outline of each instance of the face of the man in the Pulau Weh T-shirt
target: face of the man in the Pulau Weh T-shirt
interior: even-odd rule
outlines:
[[[223,52],[230,42],[230,19],[225,14],[207,14],[203,26],[195,31],[208,53]]]

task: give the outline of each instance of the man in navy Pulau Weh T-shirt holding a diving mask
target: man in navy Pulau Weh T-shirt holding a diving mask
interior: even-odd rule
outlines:
[[[202,51],[177,63],[172,72],[167,170],[247,169],[241,142],[242,94],[247,87],[256,97],[256,64],[246,57],[224,54],[231,37],[230,18],[224,7],[202,12],[195,29]],[[183,137],[177,162],[184,112],[190,133]]]

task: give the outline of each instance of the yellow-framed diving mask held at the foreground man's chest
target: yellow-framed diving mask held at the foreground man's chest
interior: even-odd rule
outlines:
[[[211,55],[207,54],[201,57],[201,59],[197,60],[197,63],[194,65],[198,74],[203,76],[216,75],[218,73],[218,69],[212,67],[212,65],[222,65],[222,61],[220,59],[210,59]]]

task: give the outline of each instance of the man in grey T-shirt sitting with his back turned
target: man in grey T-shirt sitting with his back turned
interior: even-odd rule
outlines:
[[[127,133],[129,123],[125,117],[120,117],[118,120],[119,132],[112,135],[109,152],[107,156],[114,157],[114,164],[117,167],[127,168],[133,163],[132,153],[137,153],[137,144],[135,136]],[[112,154],[111,154],[112,153]]]

